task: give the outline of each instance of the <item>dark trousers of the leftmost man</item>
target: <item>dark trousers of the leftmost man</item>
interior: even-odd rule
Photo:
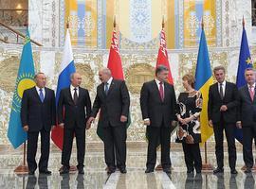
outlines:
[[[39,170],[46,170],[49,160],[49,136],[50,132],[45,129],[35,132],[27,132],[27,165],[29,171],[35,171],[37,163],[35,161],[38,135],[41,135],[41,157],[39,161]]]

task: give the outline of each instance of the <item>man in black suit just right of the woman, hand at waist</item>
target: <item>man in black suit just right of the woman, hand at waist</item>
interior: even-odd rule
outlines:
[[[213,173],[223,173],[224,151],[223,130],[225,130],[229,147],[229,167],[231,174],[237,174],[236,147],[235,147],[235,122],[238,106],[237,87],[234,83],[225,80],[225,68],[217,66],[213,69],[217,82],[210,86],[208,101],[209,125],[213,127],[215,137],[215,155],[217,168]]]

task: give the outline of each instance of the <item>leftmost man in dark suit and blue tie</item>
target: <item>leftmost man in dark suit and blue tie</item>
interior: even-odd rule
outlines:
[[[34,175],[37,169],[35,161],[38,134],[41,134],[41,158],[39,172],[51,174],[47,169],[50,147],[50,130],[56,125],[55,94],[46,88],[46,76],[38,73],[35,76],[36,86],[24,91],[21,106],[21,121],[27,131],[27,165],[28,174]]]

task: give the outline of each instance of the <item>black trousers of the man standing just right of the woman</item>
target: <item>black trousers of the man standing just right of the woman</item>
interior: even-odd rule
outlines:
[[[217,165],[219,168],[223,168],[224,166],[223,130],[225,130],[225,134],[228,142],[229,167],[230,169],[235,169],[235,165],[236,165],[236,147],[235,147],[235,138],[234,138],[235,124],[225,123],[223,118],[221,118],[220,123],[213,124],[213,131],[214,131],[214,138],[215,138],[215,155],[217,159]]]

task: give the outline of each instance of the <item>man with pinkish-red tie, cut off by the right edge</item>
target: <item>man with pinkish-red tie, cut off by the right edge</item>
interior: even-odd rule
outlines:
[[[239,89],[239,108],[237,126],[243,129],[243,156],[246,163],[246,173],[251,172],[253,166],[252,139],[256,136],[256,99],[255,99],[255,71],[247,68],[245,72],[247,85]]]

